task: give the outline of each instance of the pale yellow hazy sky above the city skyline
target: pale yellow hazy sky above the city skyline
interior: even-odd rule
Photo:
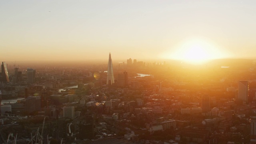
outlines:
[[[0,0],[1,61],[107,60],[109,52],[256,58],[256,1]]]

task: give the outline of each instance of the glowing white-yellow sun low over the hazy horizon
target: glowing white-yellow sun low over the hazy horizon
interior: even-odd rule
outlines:
[[[224,54],[214,44],[202,38],[181,42],[165,54],[165,58],[182,60],[191,64],[203,64],[209,60],[223,58]]]

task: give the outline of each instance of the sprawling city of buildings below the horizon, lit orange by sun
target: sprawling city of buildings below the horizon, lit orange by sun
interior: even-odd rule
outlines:
[[[256,60],[192,66],[112,57],[82,67],[2,62],[1,142],[256,142]]]

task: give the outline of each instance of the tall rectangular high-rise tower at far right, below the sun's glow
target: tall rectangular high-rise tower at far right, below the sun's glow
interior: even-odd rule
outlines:
[[[248,81],[238,81],[238,99],[248,102]]]

